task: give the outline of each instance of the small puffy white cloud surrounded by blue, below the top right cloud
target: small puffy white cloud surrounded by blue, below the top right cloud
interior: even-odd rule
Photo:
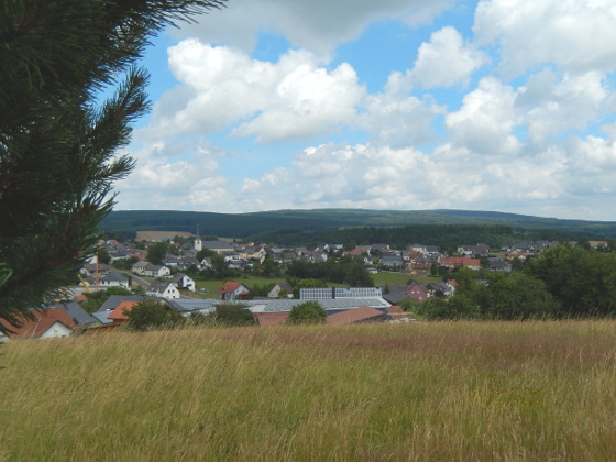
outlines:
[[[465,86],[487,61],[485,53],[464,44],[462,35],[447,26],[421,44],[411,75],[424,88]]]

